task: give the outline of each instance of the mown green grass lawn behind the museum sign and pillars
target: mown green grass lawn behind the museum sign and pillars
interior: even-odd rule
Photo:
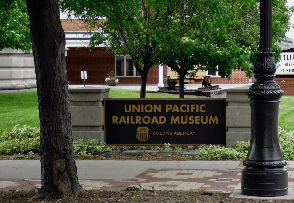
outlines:
[[[139,98],[139,90],[110,89],[109,98]],[[146,93],[146,98],[178,98],[173,94]],[[294,130],[294,96],[283,96],[280,103],[279,126]],[[0,94],[0,133],[15,125],[39,127],[37,92]]]

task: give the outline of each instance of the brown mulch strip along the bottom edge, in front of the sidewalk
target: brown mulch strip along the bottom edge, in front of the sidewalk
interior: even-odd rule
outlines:
[[[213,202],[213,203],[286,203],[293,202],[290,200],[256,200],[240,199],[229,197],[230,193],[211,193],[211,192],[185,192],[185,191],[158,191],[158,190],[123,190],[123,191],[103,191],[103,190],[86,190],[76,196],[66,198],[41,198],[37,196],[36,191],[0,191],[0,202],[79,202],[79,203],[112,203],[112,202],[142,202],[142,203],[176,203],[176,202]]]

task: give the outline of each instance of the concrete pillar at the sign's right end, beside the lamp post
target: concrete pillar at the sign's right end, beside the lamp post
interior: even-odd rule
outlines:
[[[233,147],[236,141],[248,141],[251,136],[251,111],[246,95],[250,85],[226,89],[227,93],[227,134],[226,146]]]

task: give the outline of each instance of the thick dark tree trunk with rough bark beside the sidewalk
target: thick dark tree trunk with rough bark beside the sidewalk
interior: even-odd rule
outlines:
[[[37,79],[44,196],[83,191],[78,183],[58,0],[26,0]]]

